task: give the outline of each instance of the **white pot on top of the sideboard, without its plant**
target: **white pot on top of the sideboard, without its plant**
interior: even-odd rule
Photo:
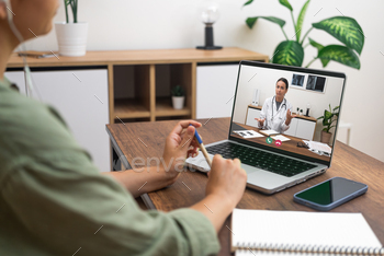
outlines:
[[[56,37],[61,56],[84,56],[87,51],[88,23],[55,23]]]

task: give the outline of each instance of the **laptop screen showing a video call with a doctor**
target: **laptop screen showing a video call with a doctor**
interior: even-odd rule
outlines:
[[[241,61],[229,139],[330,165],[346,75]]]

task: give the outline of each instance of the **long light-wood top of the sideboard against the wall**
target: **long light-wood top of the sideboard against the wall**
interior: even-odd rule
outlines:
[[[59,59],[58,59],[59,58]],[[191,49],[149,49],[149,50],[101,50],[87,51],[82,57],[27,58],[31,67],[97,66],[97,65],[145,65],[145,63],[185,63],[185,62],[230,62],[240,60],[269,61],[267,55],[228,47],[221,50]],[[8,68],[23,67],[23,60],[16,54],[10,58]]]

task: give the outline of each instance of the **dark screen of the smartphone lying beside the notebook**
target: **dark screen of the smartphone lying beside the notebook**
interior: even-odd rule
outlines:
[[[296,194],[296,197],[316,202],[329,205],[353,194],[366,185],[345,178],[332,178],[305,191]]]

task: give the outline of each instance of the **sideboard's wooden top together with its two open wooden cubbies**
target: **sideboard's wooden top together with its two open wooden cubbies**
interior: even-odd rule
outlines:
[[[81,57],[27,58],[32,68],[108,68],[110,124],[120,119],[196,117],[196,70],[201,63],[228,63],[241,60],[269,61],[267,55],[225,47],[221,50],[154,49],[87,51]],[[8,68],[21,69],[23,59],[13,54]],[[126,71],[124,72],[124,69]],[[123,70],[123,71],[122,71]],[[169,91],[185,90],[185,106],[173,109]],[[116,86],[115,86],[116,85]],[[116,95],[115,95],[115,89]],[[120,100],[124,97],[125,100]],[[118,118],[117,118],[117,117]]]

